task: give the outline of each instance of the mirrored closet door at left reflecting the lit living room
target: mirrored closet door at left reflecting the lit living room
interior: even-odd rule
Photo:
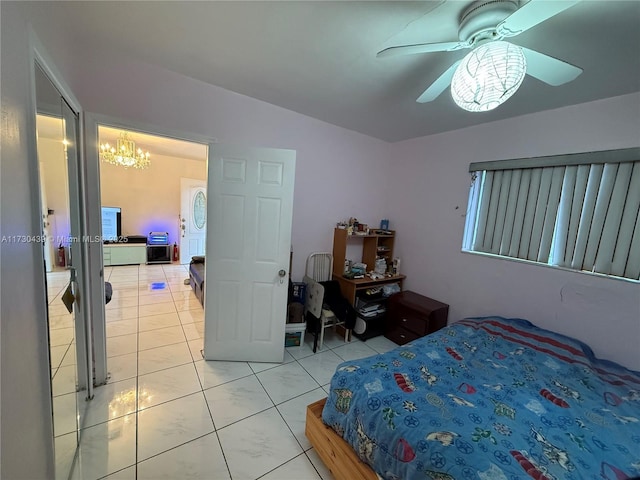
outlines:
[[[35,65],[36,132],[47,285],[56,479],[69,478],[91,367],[80,285],[78,114]],[[69,312],[71,309],[71,312]]]

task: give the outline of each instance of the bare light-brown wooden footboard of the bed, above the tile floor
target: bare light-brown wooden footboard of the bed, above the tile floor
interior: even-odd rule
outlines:
[[[351,446],[333,429],[322,423],[326,398],[307,406],[305,435],[336,480],[377,480],[376,473],[364,464]]]

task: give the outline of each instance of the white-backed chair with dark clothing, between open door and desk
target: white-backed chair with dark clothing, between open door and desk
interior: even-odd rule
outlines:
[[[331,281],[332,272],[333,255],[330,253],[315,252],[307,257],[304,276],[304,282],[307,284],[305,310],[311,313],[315,319],[319,319],[319,332],[314,332],[314,353],[318,348],[318,333],[320,334],[319,348],[322,349],[322,345],[324,344],[324,329],[333,327],[335,330],[335,327],[338,325],[345,324],[344,319],[339,320],[327,305],[327,300],[329,299],[327,294],[330,294],[329,297],[333,300],[335,300],[336,297],[341,297],[340,286],[337,282]],[[345,329],[345,341],[347,341],[348,337],[349,332]]]

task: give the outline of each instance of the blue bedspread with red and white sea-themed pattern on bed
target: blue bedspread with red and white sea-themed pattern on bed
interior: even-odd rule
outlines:
[[[386,479],[640,476],[640,373],[526,320],[342,363],[322,419]]]

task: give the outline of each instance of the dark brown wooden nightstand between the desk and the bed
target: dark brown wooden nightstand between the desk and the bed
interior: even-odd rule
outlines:
[[[449,305],[415,292],[389,297],[385,337],[404,345],[440,330],[447,324]]]

